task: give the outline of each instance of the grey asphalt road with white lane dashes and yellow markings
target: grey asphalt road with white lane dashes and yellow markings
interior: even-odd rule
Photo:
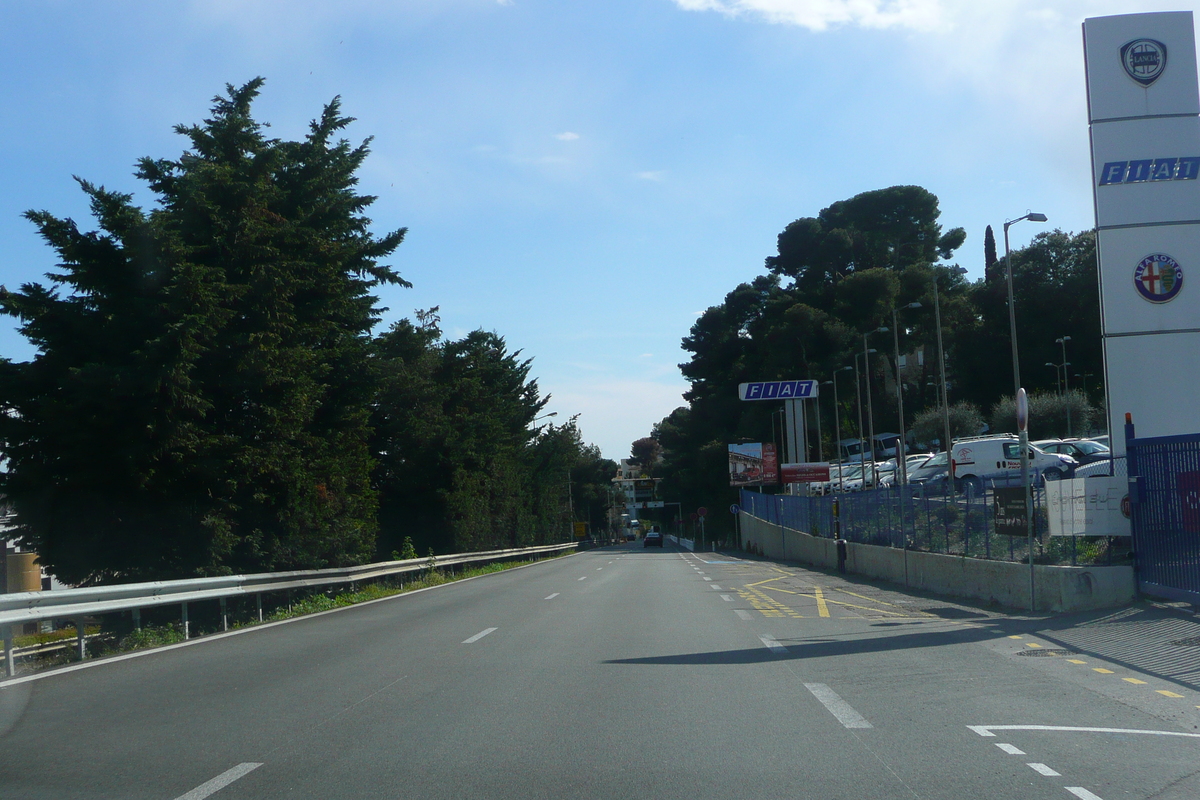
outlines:
[[[590,551],[0,684],[0,798],[1200,798],[1200,694],[1051,627]]]

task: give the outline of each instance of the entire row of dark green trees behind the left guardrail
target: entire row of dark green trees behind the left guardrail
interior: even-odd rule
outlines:
[[[0,288],[35,356],[0,361],[18,541],[74,584],[314,569],[570,539],[616,469],[494,332],[437,309],[376,333],[383,264],[335,98],[290,142],[227,86],[188,148],[142,158],[154,207],[79,180],[97,230],[26,217],[46,283]]]

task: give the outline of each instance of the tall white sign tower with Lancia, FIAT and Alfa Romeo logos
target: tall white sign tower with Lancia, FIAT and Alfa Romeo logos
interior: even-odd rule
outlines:
[[[1200,90],[1192,12],[1084,22],[1105,393],[1148,437],[1200,431]]]

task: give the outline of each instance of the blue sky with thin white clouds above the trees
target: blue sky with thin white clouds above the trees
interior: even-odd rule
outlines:
[[[90,227],[72,175],[150,194],[140,156],[226,83],[302,136],[335,95],[374,137],[377,230],[409,229],[386,319],[439,306],[534,359],[548,410],[610,458],[682,404],[679,342],[775,236],[918,184],[983,231],[1092,225],[1080,23],[1151,0],[6,0],[0,283],[53,253],[26,209]],[[1014,245],[1042,229],[1013,228]],[[31,350],[0,326],[0,355]],[[796,375],[808,378],[809,375]]]

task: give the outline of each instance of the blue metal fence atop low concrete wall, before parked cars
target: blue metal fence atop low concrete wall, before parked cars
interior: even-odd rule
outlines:
[[[834,513],[836,503],[838,513]],[[814,536],[971,558],[1027,561],[1028,540],[997,531],[992,488],[955,493],[947,483],[884,487],[826,497],[763,494],[742,489],[742,509],[760,519]],[[1045,492],[1033,491],[1034,561],[1040,564],[1112,564],[1111,540],[1050,537]],[[743,542],[748,545],[748,542]]]

